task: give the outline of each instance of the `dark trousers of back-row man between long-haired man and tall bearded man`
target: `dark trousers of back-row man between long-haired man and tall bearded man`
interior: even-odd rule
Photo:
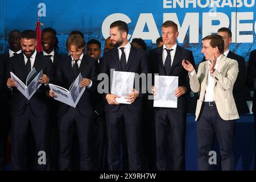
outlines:
[[[93,169],[104,170],[106,159],[106,119],[105,114],[93,119]]]

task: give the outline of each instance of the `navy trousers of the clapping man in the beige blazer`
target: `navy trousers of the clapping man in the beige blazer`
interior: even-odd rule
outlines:
[[[209,152],[212,150],[214,135],[220,145],[221,169],[234,169],[233,138],[236,120],[224,121],[218,114],[216,105],[203,102],[201,114],[196,125],[197,133],[197,168],[200,171],[211,169]]]

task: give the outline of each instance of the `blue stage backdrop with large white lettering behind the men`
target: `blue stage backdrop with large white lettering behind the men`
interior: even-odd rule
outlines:
[[[60,53],[67,52],[65,40],[72,30],[82,31],[86,41],[94,38],[104,44],[115,20],[127,22],[129,39],[144,39],[147,49],[155,47],[162,23],[173,20],[179,26],[178,43],[193,51],[197,64],[203,57],[201,39],[220,27],[232,30],[232,51],[246,61],[251,49],[256,49],[255,0],[1,0],[0,6],[2,52],[8,48],[7,34],[14,29],[34,29],[38,16],[44,27],[57,31]]]

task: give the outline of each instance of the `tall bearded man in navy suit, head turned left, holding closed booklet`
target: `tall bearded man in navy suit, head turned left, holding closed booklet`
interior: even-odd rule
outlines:
[[[110,36],[113,49],[104,53],[102,73],[109,76],[110,69],[123,72],[147,73],[147,54],[142,49],[131,46],[127,40],[128,26],[118,20],[110,24]],[[141,90],[141,89],[140,89]],[[108,136],[108,164],[110,170],[120,169],[120,146],[122,141],[122,125],[127,138],[129,155],[129,170],[141,170],[141,114],[142,94],[138,90],[131,90],[127,94],[127,102],[130,104],[118,104],[115,98],[119,98],[109,92],[104,93],[106,126]]]

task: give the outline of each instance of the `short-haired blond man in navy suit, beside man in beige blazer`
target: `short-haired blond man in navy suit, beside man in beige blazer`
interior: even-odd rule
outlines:
[[[163,46],[152,49],[150,59],[152,73],[162,76],[178,76],[179,86],[175,91],[177,108],[155,107],[156,168],[158,170],[184,170],[185,128],[187,118],[187,100],[185,93],[189,89],[188,74],[182,67],[182,60],[195,61],[192,52],[177,45],[179,36],[177,24],[166,21],[162,24]],[[152,86],[155,93],[158,88]],[[170,165],[167,160],[167,146],[170,147]]]

